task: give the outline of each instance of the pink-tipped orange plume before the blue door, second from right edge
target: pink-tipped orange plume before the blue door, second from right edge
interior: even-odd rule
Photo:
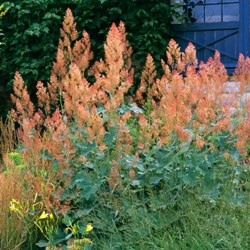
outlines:
[[[213,130],[217,132],[228,129],[231,125],[229,117],[232,100],[229,95],[225,95],[228,75],[218,51],[214,58],[210,57],[206,63],[200,63],[199,76],[202,86],[195,110],[198,121],[207,125],[213,123]]]

